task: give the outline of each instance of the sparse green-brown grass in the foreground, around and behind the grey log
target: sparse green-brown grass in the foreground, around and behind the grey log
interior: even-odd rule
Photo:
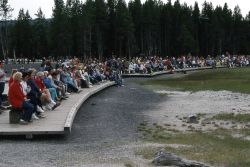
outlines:
[[[144,129],[147,129],[144,126]],[[157,131],[157,133],[155,133]],[[172,152],[180,157],[197,160],[213,166],[227,167],[248,167],[250,166],[250,141],[233,138],[233,131],[226,129],[218,129],[213,132],[191,132],[191,133],[169,133],[166,129],[159,125],[150,127],[147,133],[146,141],[186,145],[188,147],[172,148],[166,147],[167,152]],[[234,131],[235,132],[235,131]],[[237,133],[249,135],[250,130],[237,130]],[[159,135],[159,136],[157,136]],[[167,136],[162,138],[162,136]],[[138,152],[144,158],[153,159],[156,148],[144,148]]]

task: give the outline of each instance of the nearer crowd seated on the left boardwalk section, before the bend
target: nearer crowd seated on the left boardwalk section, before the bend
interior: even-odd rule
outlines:
[[[2,79],[5,85],[3,63],[0,64],[0,83]],[[38,70],[13,69],[8,81],[8,101],[12,109],[22,111],[20,123],[28,124],[44,118],[45,111],[56,109],[69,94],[79,93],[82,88],[90,88],[105,80],[123,86],[118,67],[116,59],[106,62],[89,60],[84,64],[75,58],[56,63],[44,61]],[[0,93],[2,95],[3,91]]]

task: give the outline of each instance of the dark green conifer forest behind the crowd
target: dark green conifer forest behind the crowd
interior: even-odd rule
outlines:
[[[8,0],[0,2],[0,15],[6,23],[12,9]],[[25,26],[29,29],[27,23],[20,19],[9,23],[11,31],[5,31],[8,35],[4,36],[10,37],[10,42],[2,40],[2,53],[55,59],[250,53],[250,15],[242,16],[238,6],[231,10],[226,3],[214,7],[205,1],[200,9],[198,3],[188,6],[179,0],[131,0],[128,5],[124,0],[54,2],[51,19],[45,20],[39,13],[34,20],[28,19],[28,39],[18,35],[26,31]],[[18,41],[28,41],[29,46]]]

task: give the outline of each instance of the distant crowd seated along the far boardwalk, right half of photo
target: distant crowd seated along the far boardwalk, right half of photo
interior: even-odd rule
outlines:
[[[185,68],[197,68],[197,67],[216,67],[225,66],[229,68],[233,67],[245,67],[249,66],[250,56],[235,56],[235,55],[222,55],[217,58],[207,56],[207,58],[198,56],[180,56],[180,57],[137,57],[131,61],[124,63],[124,73],[152,73],[156,71],[175,70]],[[126,60],[125,60],[126,61]]]

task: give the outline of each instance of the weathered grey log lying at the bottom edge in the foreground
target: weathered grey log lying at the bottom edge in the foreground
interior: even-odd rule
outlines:
[[[175,154],[163,151],[159,151],[155,154],[155,158],[152,163],[156,166],[209,167],[208,165],[196,161],[188,161]]]

